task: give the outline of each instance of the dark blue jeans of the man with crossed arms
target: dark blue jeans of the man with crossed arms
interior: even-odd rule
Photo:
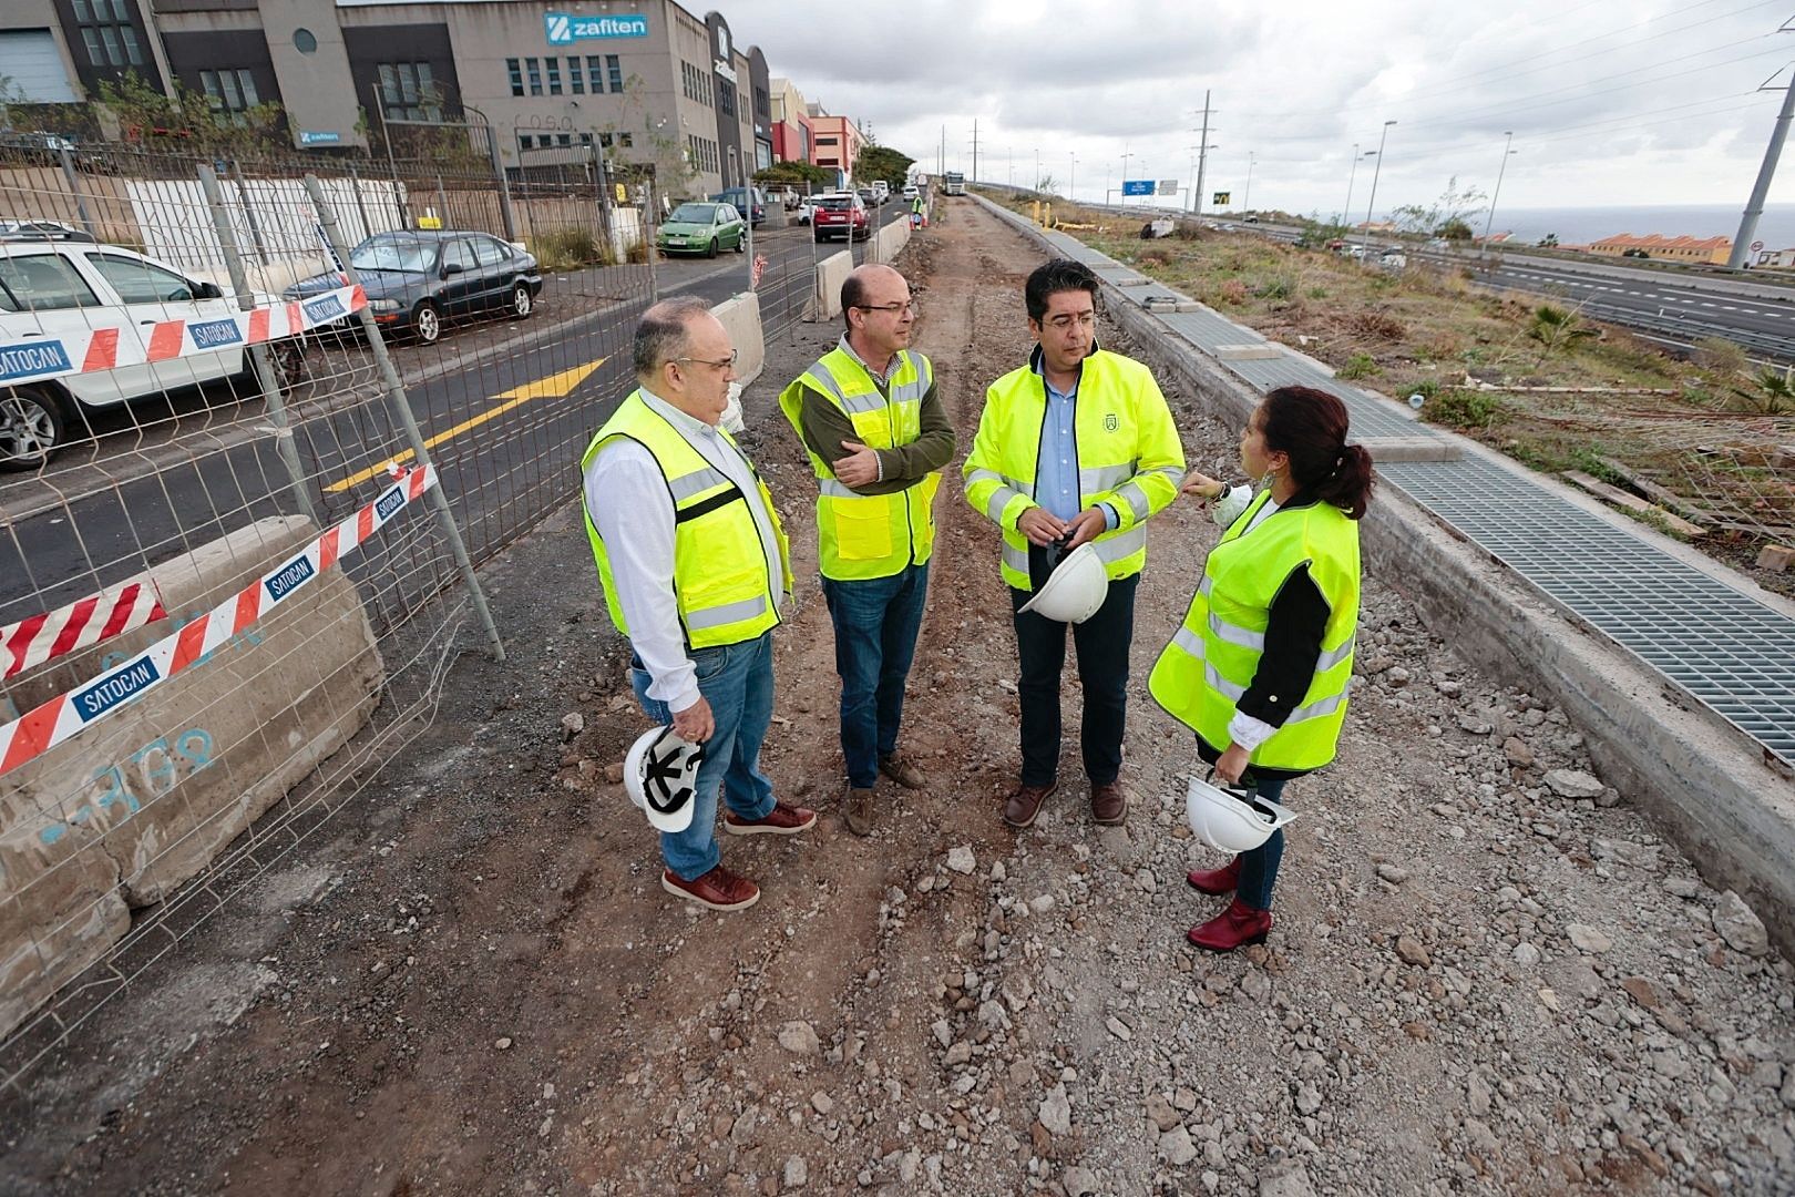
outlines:
[[[842,675],[842,759],[856,790],[871,790],[880,757],[898,752],[903,684],[926,594],[928,565],[908,565],[890,578],[822,580],[835,623],[835,671]]]

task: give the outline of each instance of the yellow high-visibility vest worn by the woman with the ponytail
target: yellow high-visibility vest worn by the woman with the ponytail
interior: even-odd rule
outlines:
[[[1269,492],[1222,535],[1203,565],[1185,625],[1147,678],[1154,700],[1215,748],[1265,653],[1265,625],[1278,589],[1298,565],[1328,603],[1321,655],[1309,689],[1283,725],[1253,750],[1253,765],[1321,768],[1334,759],[1346,718],[1353,635],[1359,626],[1359,524],[1332,502],[1280,508],[1246,531]]]

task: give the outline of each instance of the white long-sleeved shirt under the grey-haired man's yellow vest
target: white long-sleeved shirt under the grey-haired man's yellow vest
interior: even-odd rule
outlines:
[[[749,459],[714,427],[646,388],[643,402],[741,490],[761,533],[766,576],[774,580],[774,610],[779,610],[788,598],[779,538]],[[673,497],[655,456],[634,440],[605,445],[585,472],[585,506],[610,555],[610,580],[630,625],[630,648],[652,678],[648,696],[668,703],[670,711],[691,707],[700,698],[698,671],[686,655],[686,630],[673,598]]]

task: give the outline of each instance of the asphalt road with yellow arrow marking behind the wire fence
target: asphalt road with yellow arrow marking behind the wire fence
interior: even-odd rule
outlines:
[[[880,215],[906,219],[899,208],[885,205]],[[757,291],[768,337],[802,316],[813,262],[840,249],[815,244],[797,224],[756,235],[754,255],[766,258]],[[865,253],[863,242],[853,246],[856,262]],[[749,255],[664,260],[657,278],[662,296],[722,301],[749,287]],[[558,318],[556,296],[580,296],[564,307],[585,314]],[[648,300],[646,266],[574,271],[551,276],[528,321],[481,321],[434,346],[393,346],[424,436],[442,438],[431,459],[476,560],[576,492],[578,452],[634,386],[628,346]],[[293,436],[312,502],[337,520],[379,494],[381,463],[407,441],[364,345],[314,348],[311,357],[314,380],[289,400]],[[542,382],[556,379],[560,386]],[[255,519],[300,511],[266,420],[208,420],[205,397],[172,406],[176,431],[160,445],[106,438],[93,461],[0,486],[0,625],[93,594]],[[180,431],[181,422],[194,432]],[[379,553],[372,547],[345,567],[366,572]],[[409,605],[418,596],[391,598]]]

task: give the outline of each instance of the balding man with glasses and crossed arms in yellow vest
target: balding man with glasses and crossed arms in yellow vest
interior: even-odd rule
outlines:
[[[844,815],[863,836],[880,773],[923,786],[921,770],[898,756],[898,725],[953,425],[935,368],[910,348],[915,305],[903,275],[854,269],[842,284],[842,341],[779,395],[779,407],[817,472],[819,565],[842,675]]]

